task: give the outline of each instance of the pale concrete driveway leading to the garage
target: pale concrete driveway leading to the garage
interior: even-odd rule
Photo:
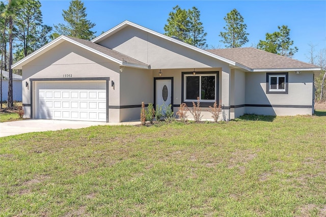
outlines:
[[[106,123],[94,121],[26,119],[2,123],[0,122],[0,137],[32,132],[80,129],[98,125],[138,125],[140,123],[140,121]]]

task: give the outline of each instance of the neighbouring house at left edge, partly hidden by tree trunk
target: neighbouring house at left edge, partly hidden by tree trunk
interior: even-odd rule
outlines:
[[[8,86],[9,86],[9,72],[2,71],[2,100],[8,100]],[[12,91],[13,91],[13,101],[22,101],[22,87],[21,87],[22,76],[17,74],[12,74]]]

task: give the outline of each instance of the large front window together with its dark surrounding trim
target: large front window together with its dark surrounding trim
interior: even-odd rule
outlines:
[[[213,105],[214,102],[219,102],[219,72],[196,72],[196,75],[193,75],[193,72],[182,72],[181,73],[181,101],[187,105],[192,106],[192,102],[197,102],[197,99],[186,99],[186,78],[189,77],[199,77],[199,93],[201,93],[202,77],[203,76],[214,76],[215,77],[215,99],[214,100],[202,100],[200,99],[202,107],[208,107]],[[201,98],[201,94],[199,96]],[[207,105],[206,105],[207,104]]]

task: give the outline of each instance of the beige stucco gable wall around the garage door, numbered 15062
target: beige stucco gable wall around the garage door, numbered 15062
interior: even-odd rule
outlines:
[[[69,82],[70,79],[72,83],[76,83],[74,78],[93,79],[110,77],[110,80],[115,81],[115,86],[112,87],[110,81],[108,89],[109,106],[120,106],[119,65],[68,42],[61,43],[52,48],[50,52],[46,52],[30,63],[24,65],[22,70],[22,83],[29,83],[29,88],[23,88],[22,90],[22,102],[25,105],[31,104],[30,88],[33,86],[33,116],[35,116],[36,108],[35,96],[37,82],[33,81],[33,84],[31,84],[30,79],[61,78],[66,79],[67,81],[65,82]],[[28,106],[26,106],[26,112],[31,113],[31,111],[29,111],[31,109],[27,108]],[[119,110],[111,111],[109,109],[109,116],[110,113],[114,115],[109,117],[109,121],[119,122]]]

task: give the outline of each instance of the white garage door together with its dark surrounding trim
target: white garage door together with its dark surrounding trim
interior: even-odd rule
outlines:
[[[30,79],[31,81],[31,117],[44,119],[68,119],[108,122],[108,81],[110,78],[42,78]],[[33,82],[36,81],[37,83]],[[41,84],[42,81],[71,81],[73,83],[85,81],[106,81],[105,89],[60,89],[60,88],[35,88],[33,83]],[[33,90],[36,98],[33,102]],[[105,95],[105,96],[104,96]],[[66,97],[66,98],[65,98]],[[95,104],[96,103],[96,104]],[[105,104],[105,106],[104,106]],[[33,105],[36,108],[33,108]],[[42,112],[39,108],[47,109]],[[66,107],[66,108],[63,108]],[[33,111],[35,115],[33,115]]]

